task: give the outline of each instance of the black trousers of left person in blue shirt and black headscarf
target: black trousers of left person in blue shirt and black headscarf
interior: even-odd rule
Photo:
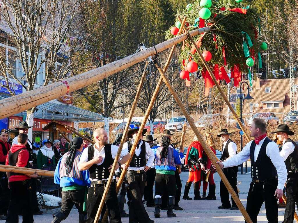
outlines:
[[[62,202],[60,212],[64,213],[66,217],[69,215],[72,207],[75,205],[79,214],[86,214],[83,211],[83,203],[85,198],[85,189],[62,191]]]

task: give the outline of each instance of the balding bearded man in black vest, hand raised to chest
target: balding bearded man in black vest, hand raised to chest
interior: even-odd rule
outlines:
[[[110,175],[110,169],[113,166],[116,157],[118,146],[108,144],[108,135],[104,129],[96,129],[93,132],[95,144],[83,150],[80,157],[79,170],[89,170],[91,186],[88,190],[87,200],[87,223],[93,223],[100,201],[105,190],[105,185]],[[116,169],[122,164],[125,164],[131,155],[128,150],[122,148],[120,161],[116,165]],[[110,223],[120,223],[120,211],[116,193],[115,176],[109,188],[105,205],[108,209]],[[103,217],[105,211],[101,212]]]

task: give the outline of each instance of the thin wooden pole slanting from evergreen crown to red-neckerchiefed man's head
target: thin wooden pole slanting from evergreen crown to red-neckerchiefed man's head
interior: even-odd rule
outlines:
[[[179,20],[181,21],[181,18],[178,16]],[[186,27],[184,26],[184,30],[187,32],[187,29]],[[248,132],[246,131],[246,129],[244,128],[242,122],[240,121],[238,115],[236,114],[235,110],[233,109],[231,103],[229,102],[229,100],[227,99],[224,91],[221,89],[221,86],[219,85],[219,83],[217,82],[211,68],[209,67],[208,63],[206,62],[206,60],[204,59],[200,49],[198,48],[198,46],[195,44],[195,41],[193,40],[192,36],[187,34],[188,35],[188,38],[190,39],[190,41],[192,42],[193,46],[195,47],[197,53],[199,54],[204,66],[206,67],[207,71],[209,72],[213,82],[215,83],[216,87],[218,88],[218,91],[221,93],[221,96],[223,97],[224,101],[226,102],[226,104],[228,105],[230,111],[232,112],[233,116],[236,118],[236,121],[238,122],[241,130],[244,132],[244,135],[246,136],[247,140],[250,141],[250,137],[249,137],[249,134]]]

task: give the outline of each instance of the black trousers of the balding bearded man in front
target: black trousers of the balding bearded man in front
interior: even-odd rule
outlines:
[[[100,201],[105,190],[104,184],[91,185],[88,189],[87,199],[87,222],[93,223]],[[116,183],[112,182],[108,190],[108,194],[105,201],[105,206],[108,208],[110,223],[121,223],[118,198],[116,193]],[[105,214],[105,209],[101,212],[101,217]]]

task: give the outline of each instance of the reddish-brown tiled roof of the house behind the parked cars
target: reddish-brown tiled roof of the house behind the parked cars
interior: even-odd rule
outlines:
[[[295,85],[298,84],[298,79],[295,79]],[[246,81],[249,82],[249,81]],[[239,83],[240,86],[240,83]],[[243,84],[245,95],[247,94],[246,84]],[[270,93],[265,93],[265,88],[271,87]],[[237,88],[233,88],[231,94],[235,94]],[[256,81],[252,81],[252,91],[250,95],[254,98],[253,105],[259,104],[258,107],[253,106],[253,114],[259,112],[273,112],[275,114],[286,114],[290,111],[290,80],[289,79],[267,79],[260,80],[260,89],[256,89]],[[283,102],[282,108],[263,108],[262,102]],[[243,115],[250,114],[250,106],[248,102],[243,103]],[[224,106],[223,113],[226,114],[227,105]]]

